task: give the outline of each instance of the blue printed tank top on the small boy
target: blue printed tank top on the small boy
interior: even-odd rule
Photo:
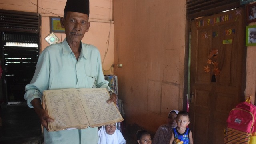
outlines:
[[[172,132],[174,134],[174,144],[189,144],[189,128],[186,128],[183,134],[180,134],[177,128],[173,128]]]

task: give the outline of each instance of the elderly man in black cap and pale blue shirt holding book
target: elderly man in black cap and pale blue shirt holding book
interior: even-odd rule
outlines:
[[[111,92],[108,81],[104,80],[100,53],[98,49],[81,42],[90,27],[89,0],[67,0],[64,18],[66,38],[63,42],[52,44],[40,54],[36,71],[25,88],[24,98],[30,108],[38,114],[44,126],[45,144],[97,144],[97,128],[61,130],[48,132],[47,122],[54,122],[42,108],[42,92],[63,88],[108,88],[111,99],[117,99]]]

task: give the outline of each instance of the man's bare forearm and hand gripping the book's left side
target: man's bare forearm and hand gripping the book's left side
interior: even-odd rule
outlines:
[[[47,122],[54,122],[54,119],[48,116],[48,113],[46,112],[46,110],[43,109],[39,98],[35,98],[34,100],[32,100],[31,104],[34,106],[34,110],[38,115],[42,126],[44,126],[46,130],[48,130]]]

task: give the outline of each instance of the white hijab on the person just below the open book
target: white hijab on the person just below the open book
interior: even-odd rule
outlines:
[[[106,132],[105,126],[102,126],[98,130],[98,135],[99,135],[98,144],[126,144],[124,136],[118,129],[116,129],[114,134],[109,135]]]

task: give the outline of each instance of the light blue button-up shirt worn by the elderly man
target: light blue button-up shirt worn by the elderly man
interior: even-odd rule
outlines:
[[[27,104],[33,108],[31,101],[40,98],[44,90],[63,88],[107,88],[108,81],[104,79],[100,52],[89,44],[82,44],[78,60],[66,39],[58,44],[52,44],[40,54],[35,74],[30,84],[25,87]],[[97,128],[82,130],[61,130],[48,132],[44,128],[45,144],[97,144]]]

